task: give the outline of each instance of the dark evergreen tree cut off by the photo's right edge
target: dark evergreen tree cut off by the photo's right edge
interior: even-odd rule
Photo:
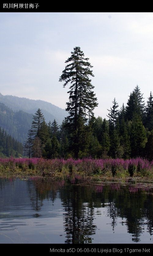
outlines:
[[[153,129],[153,95],[151,92],[147,101],[145,116],[145,126],[149,131],[151,131]]]

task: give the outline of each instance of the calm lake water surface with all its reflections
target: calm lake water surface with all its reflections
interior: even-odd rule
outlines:
[[[0,243],[152,243],[153,184],[0,179]]]

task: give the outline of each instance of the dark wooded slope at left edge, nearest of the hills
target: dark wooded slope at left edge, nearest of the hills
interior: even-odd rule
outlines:
[[[21,157],[22,143],[18,142],[0,127],[0,157]]]

